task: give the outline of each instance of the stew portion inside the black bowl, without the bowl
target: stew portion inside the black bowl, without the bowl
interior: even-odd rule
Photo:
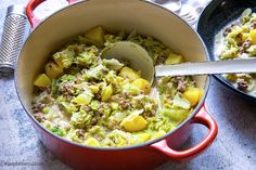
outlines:
[[[256,13],[246,9],[239,21],[229,24],[216,36],[218,60],[256,57]],[[223,75],[235,88],[256,96],[255,74]]]

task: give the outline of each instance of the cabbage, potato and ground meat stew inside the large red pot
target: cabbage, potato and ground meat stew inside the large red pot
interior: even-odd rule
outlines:
[[[155,64],[183,62],[152,37],[97,26],[55,52],[35,78],[35,118],[76,143],[124,147],[161,138],[190,116],[203,95],[192,77],[162,77],[151,87],[127,61],[101,58],[124,40],[142,45]]]

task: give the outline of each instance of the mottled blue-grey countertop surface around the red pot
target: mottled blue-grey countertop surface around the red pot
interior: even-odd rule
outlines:
[[[26,4],[27,1],[1,0],[0,35],[7,8],[13,3]],[[169,161],[157,170],[255,170],[256,102],[242,99],[213,79],[205,104],[219,126],[216,141],[193,160]],[[206,128],[196,126],[187,146],[196,144],[206,133]],[[0,78],[0,169],[69,169],[55,159],[40,142],[20,104],[13,78]]]

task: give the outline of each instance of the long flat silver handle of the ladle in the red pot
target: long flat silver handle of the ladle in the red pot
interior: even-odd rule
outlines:
[[[256,58],[229,60],[202,63],[182,63],[176,65],[158,65],[155,76],[189,76],[215,74],[256,73]]]

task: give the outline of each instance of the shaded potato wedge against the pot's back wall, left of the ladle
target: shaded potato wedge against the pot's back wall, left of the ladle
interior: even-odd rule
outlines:
[[[86,32],[85,37],[91,41],[91,43],[97,47],[102,47],[104,44],[105,30],[102,26],[97,26]]]

